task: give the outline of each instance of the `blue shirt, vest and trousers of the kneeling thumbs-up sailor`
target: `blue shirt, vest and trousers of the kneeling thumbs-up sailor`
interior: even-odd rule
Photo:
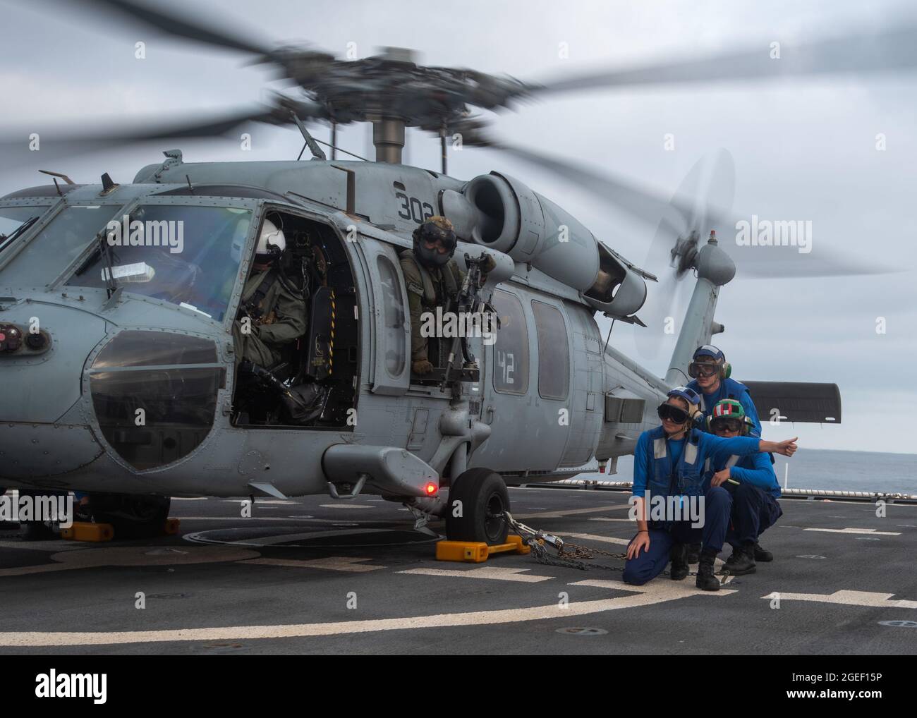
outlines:
[[[669,550],[675,542],[702,541],[705,548],[717,553],[723,549],[733,500],[722,486],[710,485],[707,469],[725,464],[733,454],[740,457],[755,454],[758,446],[759,439],[751,436],[722,438],[697,428],[678,441],[667,439],[662,426],[640,435],[634,450],[633,495],[644,498],[648,490],[651,497],[702,496],[703,526],[691,528],[690,521],[647,522],[649,549],[624,563],[624,583],[640,586],[655,579],[666,568]],[[646,511],[650,511],[649,505]]]

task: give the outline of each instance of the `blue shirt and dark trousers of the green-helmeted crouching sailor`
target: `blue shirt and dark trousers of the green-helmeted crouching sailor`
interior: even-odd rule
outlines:
[[[725,469],[727,463],[733,462],[735,466],[729,473],[739,485],[728,482],[723,485],[728,487],[733,497],[732,520],[726,532],[726,541],[735,547],[757,543],[757,537],[777,523],[783,510],[777,501],[780,498],[780,485],[768,454],[741,458],[733,456],[724,463],[712,462],[713,469],[707,481],[713,478],[713,473]]]

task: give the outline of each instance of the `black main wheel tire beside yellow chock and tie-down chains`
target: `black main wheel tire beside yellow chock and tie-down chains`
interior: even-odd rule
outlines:
[[[461,516],[453,515],[456,501],[461,502]],[[488,546],[505,544],[510,527],[502,514],[509,509],[509,492],[500,474],[491,469],[468,469],[449,489],[446,537]]]

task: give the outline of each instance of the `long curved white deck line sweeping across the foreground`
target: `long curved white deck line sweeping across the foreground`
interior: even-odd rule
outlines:
[[[609,583],[614,583],[610,581]],[[545,621],[573,616],[603,613],[624,608],[648,606],[675,601],[711,591],[698,591],[686,581],[652,581],[646,586],[621,583],[615,590],[628,595],[598,601],[572,602],[560,608],[557,602],[531,608],[508,608],[496,611],[468,613],[436,613],[434,615],[403,616],[366,621],[339,621],[324,624],[235,625],[211,628],[175,628],[158,631],[110,632],[41,632],[8,631],[0,633],[0,646],[112,646],[175,641],[242,641],[258,638],[301,638],[314,635],[362,634],[374,631],[398,631],[417,628],[446,628],[459,625],[515,624]],[[612,588],[609,586],[609,588]],[[716,591],[713,595],[728,595],[735,591]]]

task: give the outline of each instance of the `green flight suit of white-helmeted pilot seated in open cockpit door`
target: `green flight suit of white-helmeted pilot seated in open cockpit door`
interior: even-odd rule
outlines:
[[[241,305],[245,306],[258,290],[266,272],[256,271],[245,282]],[[240,313],[240,317],[244,314]],[[308,322],[302,298],[287,290],[280,277],[275,276],[260,301],[260,317],[250,323],[249,333],[243,333],[241,318],[233,322],[232,337],[236,361],[249,359],[253,364],[268,368],[281,359],[280,348],[304,337]]]

